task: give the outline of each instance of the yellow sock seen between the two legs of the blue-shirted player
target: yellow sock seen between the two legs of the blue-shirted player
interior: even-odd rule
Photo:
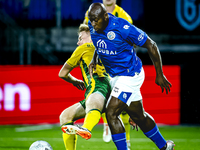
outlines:
[[[125,131],[126,131],[126,140],[128,141],[130,140],[130,131],[131,131],[130,124],[129,124],[129,115],[123,112],[120,115],[120,117],[124,123]]]

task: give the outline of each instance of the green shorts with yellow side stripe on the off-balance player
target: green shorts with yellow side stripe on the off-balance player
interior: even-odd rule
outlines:
[[[108,77],[99,77],[98,75],[93,75],[93,79],[94,80],[92,80],[92,82],[86,89],[85,99],[80,101],[80,104],[83,106],[84,109],[85,109],[85,102],[92,93],[101,94],[102,96],[105,97],[106,102],[110,96],[111,92],[110,79]]]

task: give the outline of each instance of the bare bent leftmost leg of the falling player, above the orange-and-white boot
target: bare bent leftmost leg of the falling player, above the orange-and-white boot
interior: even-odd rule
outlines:
[[[69,121],[75,121],[84,117],[85,109],[79,102],[62,111],[62,113],[60,114],[60,124],[62,125]]]

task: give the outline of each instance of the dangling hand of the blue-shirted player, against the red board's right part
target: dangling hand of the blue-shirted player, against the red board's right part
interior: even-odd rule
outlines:
[[[170,88],[171,88],[172,84],[167,80],[167,78],[164,75],[156,76],[156,84],[161,87],[162,93],[164,92],[164,89],[166,91],[166,94],[168,94],[168,92],[170,92]]]

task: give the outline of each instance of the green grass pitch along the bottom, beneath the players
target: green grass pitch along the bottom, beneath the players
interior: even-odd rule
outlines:
[[[200,149],[200,126],[160,126],[165,139],[173,140],[175,150]],[[78,137],[77,150],[116,150],[114,143],[102,140],[103,126],[97,125],[90,140]],[[65,150],[62,132],[57,125],[44,126],[0,126],[0,150],[27,150],[37,140],[50,143],[54,150]],[[157,150],[158,148],[146,138],[141,130],[131,130],[132,150]]]

